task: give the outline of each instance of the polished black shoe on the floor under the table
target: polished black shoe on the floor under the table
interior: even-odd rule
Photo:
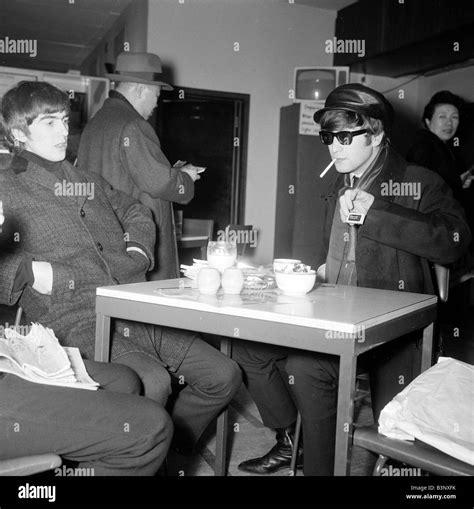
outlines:
[[[252,474],[272,474],[284,468],[290,468],[291,454],[293,451],[294,427],[277,429],[277,443],[260,458],[243,461],[238,466],[239,470]],[[303,468],[303,448],[298,447],[297,468]]]

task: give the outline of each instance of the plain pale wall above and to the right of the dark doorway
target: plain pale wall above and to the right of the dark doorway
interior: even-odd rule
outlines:
[[[147,51],[179,86],[250,94],[245,222],[273,257],[280,107],[297,66],[332,65],[336,13],[280,0],[149,0]],[[234,43],[239,51],[234,51]],[[205,176],[203,177],[205,178]]]

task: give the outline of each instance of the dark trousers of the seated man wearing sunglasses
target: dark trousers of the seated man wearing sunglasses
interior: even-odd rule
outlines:
[[[242,368],[265,426],[286,427],[300,411],[304,474],[333,475],[338,358],[245,341],[234,341],[233,358]],[[416,377],[420,359],[421,349],[413,335],[362,359],[369,371],[376,421],[382,408]]]

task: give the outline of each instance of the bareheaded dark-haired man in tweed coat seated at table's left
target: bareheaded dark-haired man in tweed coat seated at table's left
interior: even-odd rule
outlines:
[[[91,359],[96,288],[144,282],[153,267],[151,212],[64,160],[65,93],[48,83],[22,82],[5,94],[1,112],[16,153],[0,174],[0,198],[11,218],[0,259],[0,302],[18,303],[29,321],[53,329],[63,345]],[[166,375],[154,377],[151,388],[162,404],[170,374],[185,382],[171,410],[183,449],[192,449],[240,386],[237,364],[192,332],[115,320],[111,360],[127,365],[127,354]]]

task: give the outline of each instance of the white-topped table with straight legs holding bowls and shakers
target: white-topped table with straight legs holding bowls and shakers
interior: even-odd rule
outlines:
[[[97,288],[95,359],[109,360],[111,317],[291,346],[340,358],[335,475],[348,475],[357,357],[410,331],[423,329],[421,371],[431,366],[437,297],[350,286],[316,285],[304,297],[279,291],[252,297],[200,295],[189,280]],[[227,411],[217,421],[215,474],[225,475]]]

